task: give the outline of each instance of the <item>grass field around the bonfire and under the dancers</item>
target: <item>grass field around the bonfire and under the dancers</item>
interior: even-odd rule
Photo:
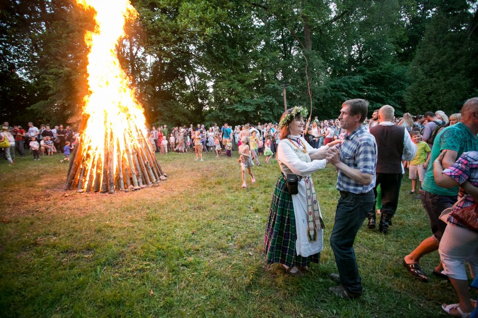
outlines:
[[[441,303],[458,300],[431,275],[437,253],[422,260],[428,283],[401,264],[431,234],[408,179],[390,234],[364,223],[357,235],[364,294],[349,301],[327,292],[337,270],[328,244],[334,169],[313,175],[325,222],[321,262],[290,277],[262,254],[275,160],[254,167],[256,184],[241,189],[235,158],[158,158],[167,181],[116,194],[63,191],[68,164],[59,155],[0,162],[2,316],[437,317],[446,316]]]

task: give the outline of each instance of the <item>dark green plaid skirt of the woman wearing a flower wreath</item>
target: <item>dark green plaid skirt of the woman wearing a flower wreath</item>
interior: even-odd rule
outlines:
[[[309,257],[295,253],[295,217],[292,197],[282,175],[276,182],[272,195],[271,208],[264,235],[264,254],[267,264],[281,263],[289,267],[308,266],[310,262],[318,263],[320,253]]]

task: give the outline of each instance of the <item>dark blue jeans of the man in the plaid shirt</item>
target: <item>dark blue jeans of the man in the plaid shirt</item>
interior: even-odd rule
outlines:
[[[355,260],[353,241],[374,203],[373,190],[362,194],[340,191],[337,203],[331,248],[339,270],[340,284],[347,292],[355,295],[362,294],[362,280]]]

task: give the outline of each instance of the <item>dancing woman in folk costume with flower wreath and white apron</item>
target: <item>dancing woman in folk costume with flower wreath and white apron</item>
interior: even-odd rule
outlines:
[[[323,248],[323,221],[310,174],[325,168],[328,147],[314,149],[301,136],[306,116],[305,108],[294,107],[281,117],[277,160],[282,173],[264,238],[266,263],[279,263],[289,274],[302,274],[310,262],[318,263]]]

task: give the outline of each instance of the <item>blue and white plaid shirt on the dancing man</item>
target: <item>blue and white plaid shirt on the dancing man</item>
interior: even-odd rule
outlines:
[[[340,161],[362,173],[373,174],[372,183],[363,185],[349,178],[339,170],[337,189],[355,194],[367,193],[375,187],[375,168],[377,166],[377,143],[375,137],[364,126],[359,126],[346,135],[340,145]]]

